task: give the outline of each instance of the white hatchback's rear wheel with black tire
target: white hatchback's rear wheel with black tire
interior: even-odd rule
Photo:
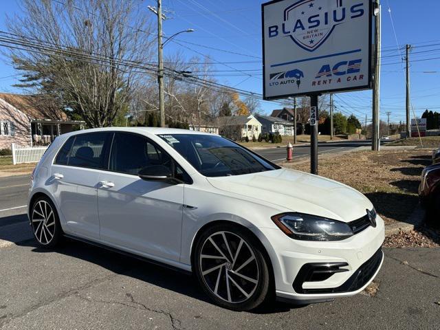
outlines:
[[[63,237],[60,219],[49,197],[39,197],[32,204],[30,221],[34,238],[41,248],[51,249]]]

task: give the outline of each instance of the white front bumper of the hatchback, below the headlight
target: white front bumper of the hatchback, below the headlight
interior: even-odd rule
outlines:
[[[275,229],[264,230],[264,235],[281,300],[314,303],[353,296],[373,281],[384,259],[384,221],[379,216],[376,228],[370,226],[343,241],[297,241]],[[311,273],[304,271],[311,264],[337,265],[333,270],[341,271],[311,280]]]

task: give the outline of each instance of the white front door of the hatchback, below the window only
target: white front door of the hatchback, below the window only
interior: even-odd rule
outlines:
[[[102,173],[98,181],[100,237],[142,253],[179,261],[184,185]]]

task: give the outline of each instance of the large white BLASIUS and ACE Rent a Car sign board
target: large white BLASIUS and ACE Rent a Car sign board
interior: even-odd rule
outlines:
[[[266,100],[371,88],[371,0],[262,5]]]

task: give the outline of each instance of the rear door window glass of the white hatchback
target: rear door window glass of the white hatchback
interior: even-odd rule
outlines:
[[[69,153],[70,166],[107,169],[106,148],[113,133],[89,133],[76,135]]]

